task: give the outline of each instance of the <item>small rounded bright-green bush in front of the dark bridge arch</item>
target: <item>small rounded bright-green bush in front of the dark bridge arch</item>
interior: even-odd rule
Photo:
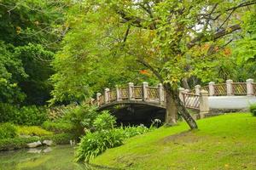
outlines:
[[[108,111],[102,111],[100,115],[96,116],[96,119],[93,122],[96,131],[112,129],[115,124],[116,118],[111,116]]]

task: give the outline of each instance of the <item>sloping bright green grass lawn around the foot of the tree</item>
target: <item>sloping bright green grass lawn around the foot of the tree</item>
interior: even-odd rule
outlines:
[[[92,164],[120,169],[256,169],[256,117],[228,114],[199,120],[199,130],[181,122],[127,139]]]

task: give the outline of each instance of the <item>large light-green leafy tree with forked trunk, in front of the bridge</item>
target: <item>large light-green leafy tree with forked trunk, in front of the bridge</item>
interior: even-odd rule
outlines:
[[[109,65],[111,72],[119,71],[119,62],[115,61],[126,65],[131,60],[132,64],[147,68],[164,84],[166,122],[175,124],[178,111],[191,128],[196,128],[195,121],[178,98],[177,88],[189,77],[201,81],[218,77],[222,69],[218,65],[229,56],[227,45],[230,38],[241,29],[240,17],[246,7],[254,3],[238,0],[101,0],[78,3],[71,14],[72,24],[76,26],[71,24],[73,31],[55,60],[55,65],[59,66],[53,77],[55,90],[63,82],[68,86],[65,92],[84,83],[79,88],[83,89],[88,84],[86,82],[99,77],[86,74]],[[65,64],[73,66],[67,66],[70,73],[62,74],[61,68]],[[72,79],[67,78],[71,74],[81,77],[71,82]],[[64,78],[70,84],[61,81]]]

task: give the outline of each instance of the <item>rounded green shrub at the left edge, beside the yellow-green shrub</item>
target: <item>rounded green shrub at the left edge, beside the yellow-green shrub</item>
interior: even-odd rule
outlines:
[[[12,139],[15,136],[17,136],[15,125],[9,122],[0,124],[0,139]]]

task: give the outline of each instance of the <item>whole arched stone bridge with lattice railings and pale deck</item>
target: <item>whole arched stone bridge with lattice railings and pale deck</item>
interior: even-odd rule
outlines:
[[[256,103],[255,95],[256,83],[253,79],[247,79],[247,82],[233,82],[232,80],[220,84],[209,82],[205,87],[195,86],[191,92],[180,88],[179,97],[185,107],[205,114],[213,109],[247,108],[248,105]],[[91,102],[97,105],[99,110],[126,107],[132,112],[134,109],[131,106],[139,106],[142,111],[148,108],[165,110],[166,92],[162,84],[149,87],[148,82],[143,82],[142,86],[134,86],[132,82],[129,82],[125,88],[111,90],[106,88],[104,94],[96,94],[96,99]]]

